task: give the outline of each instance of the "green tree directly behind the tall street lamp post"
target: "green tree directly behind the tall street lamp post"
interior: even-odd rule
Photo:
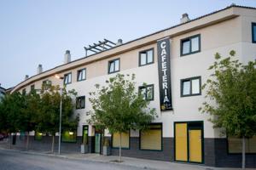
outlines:
[[[72,96],[76,95],[74,90],[67,91],[62,89],[60,94],[60,86],[52,86],[44,84],[41,94],[41,105],[38,116],[38,125],[36,130],[42,133],[50,133],[52,135],[51,152],[54,152],[55,133],[59,132],[60,125],[60,102],[62,99],[62,129],[76,129],[79,122],[79,116],[73,116]],[[61,129],[61,130],[62,130]]]

